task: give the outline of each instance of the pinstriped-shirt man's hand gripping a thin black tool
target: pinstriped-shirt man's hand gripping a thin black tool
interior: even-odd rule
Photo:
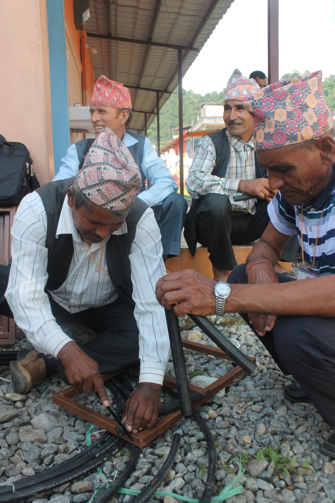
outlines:
[[[96,390],[101,403],[108,407],[109,400],[97,363],[87,356],[74,342],[67,343],[58,353],[67,382],[85,393]]]

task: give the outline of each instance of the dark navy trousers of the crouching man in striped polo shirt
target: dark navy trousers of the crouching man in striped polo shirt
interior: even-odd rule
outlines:
[[[296,281],[282,274],[278,278],[280,283]],[[232,271],[228,282],[247,283],[245,264]],[[248,323],[247,314],[240,314]],[[335,427],[335,318],[277,316],[273,330],[260,340],[282,372],[302,386],[324,421]]]

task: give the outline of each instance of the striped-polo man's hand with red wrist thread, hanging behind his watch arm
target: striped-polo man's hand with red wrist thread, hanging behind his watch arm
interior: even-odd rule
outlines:
[[[251,285],[268,285],[271,283],[279,283],[278,276],[272,264],[262,262],[252,266],[247,264],[248,270],[248,284]],[[276,316],[274,314],[255,314],[248,313],[249,321],[253,325],[255,332],[258,336],[265,336],[266,332],[272,330]]]

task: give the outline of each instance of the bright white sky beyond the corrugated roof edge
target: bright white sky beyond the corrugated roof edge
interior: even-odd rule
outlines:
[[[183,89],[222,91],[235,68],[267,75],[267,0],[235,0],[183,77]],[[335,0],[279,0],[279,78],[335,74]]]

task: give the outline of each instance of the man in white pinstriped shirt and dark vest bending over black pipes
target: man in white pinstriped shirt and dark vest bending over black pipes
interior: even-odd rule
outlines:
[[[73,179],[26,196],[12,229],[6,299],[36,351],[11,362],[13,386],[27,393],[58,371],[85,392],[108,397],[102,373],[140,362],[139,387],[126,405],[134,433],[157,420],[169,339],[155,284],[164,274],[151,208],[136,195],[141,174],[123,142],[103,130]],[[77,345],[61,323],[96,332]]]

